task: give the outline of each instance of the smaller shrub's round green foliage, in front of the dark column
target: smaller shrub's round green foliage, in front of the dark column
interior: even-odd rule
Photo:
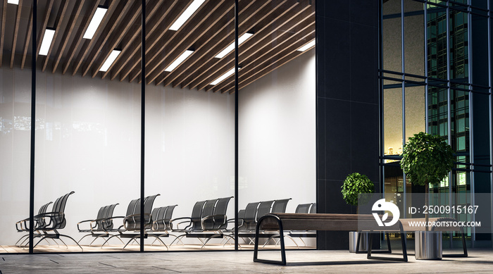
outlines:
[[[366,175],[359,173],[347,175],[341,188],[342,198],[351,206],[358,205],[358,194],[375,192],[373,182]]]

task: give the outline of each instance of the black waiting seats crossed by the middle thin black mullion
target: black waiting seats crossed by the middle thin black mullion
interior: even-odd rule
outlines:
[[[127,244],[125,244],[125,246],[123,247],[123,249],[125,249],[125,247],[127,247],[127,245],[130,244],[130,242],[135,241],[135,239],[140,237],[141,218],[144,218],[144,232],[145,232],[144,239],[146,239],[148,236],[146,230],[152,227],[152,215],[151,215],[152,206],[154,204],[154,200],[159,195],[160,194],[156,194],[144,198],[144,216],[140,215],[140,199],[135,199],[130,201],[130,204],[128,204],[127,215],[125,217],[117,216],[117,217],[109,218],[111,220],[114,220],[116,218],[123,218],[123,225],[120,225],[118,229],[107,230],[107,232],[118,232],[118,234],[111,235],[111,237],[108,237],[108,239],[106,239],[106,241],[101,245],[101,248],[104,247],[104,244],[106,244],[113,237],[119,237],[120,240],[123,238],[130,238]],[[150,235],[150,236],[156,237],[155,235]],[[156,237],[156,239],[158,239],[164,244],[164,242],[158,237]]]

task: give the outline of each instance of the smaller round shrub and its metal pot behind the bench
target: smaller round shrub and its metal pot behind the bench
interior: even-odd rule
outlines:
[[[351,206],[358,206],[358,194],[375,192],[375,185],[366,176],[359,173],[347,175],[342,184],[342,198]],[[357,209],[356,209],[357,210]],[[349,232],[349,252],[356,252],[356,243],[358,241],[358,232]],[[368,233],[361,237],[359,244],[360,251],[368,250]]]

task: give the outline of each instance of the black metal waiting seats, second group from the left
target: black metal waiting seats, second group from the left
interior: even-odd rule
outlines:
[[[82,233],[87,233],[86,235],[82,236],[82,238],[80,238],[79,243],[85,237],[92,236],[94,237],[94,239],[89,244],[90,247],[92,243],[96,241],[96,239],[109,237],[110,234],[108,231],[113,229],[113,219],[111,217],[113,217],[113,211],[115,210],[116,206],[118,206],[118,204],[102,206],[101,208],[99,208],[96,219],[82,220],[79,223],[77,223],[77,230],[79,230],[79,232]],[[86,228],[81,228],[82,224],[88,224],[89,226]]]

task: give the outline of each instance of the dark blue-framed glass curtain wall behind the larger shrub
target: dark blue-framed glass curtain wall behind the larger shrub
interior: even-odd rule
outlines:
[[[401,210],[413,201],[399,197],[424,192],[399,166],[402,147],[418,132],[444,137],[455,152],[448,178],[430,186],[447,194],[435,205],[474,205],[475,193],[491,192],[487,2],[382,1],[382,190]]]

